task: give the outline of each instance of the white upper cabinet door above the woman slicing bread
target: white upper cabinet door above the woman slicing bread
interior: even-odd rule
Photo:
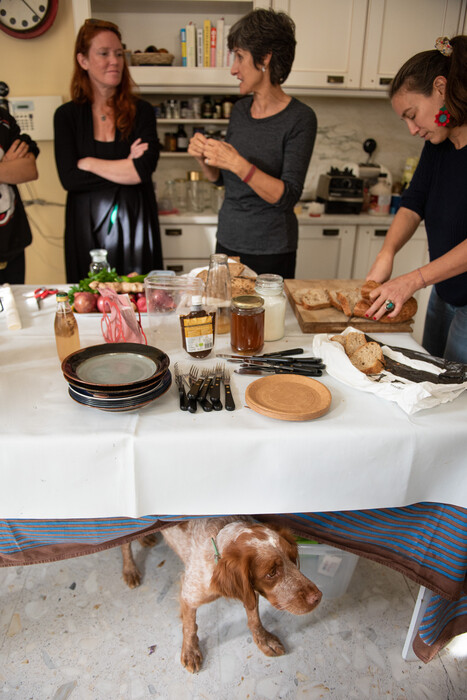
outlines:
[[[386,91],[405,61],[460,29],[462,0],[369,0],[361,87]]]

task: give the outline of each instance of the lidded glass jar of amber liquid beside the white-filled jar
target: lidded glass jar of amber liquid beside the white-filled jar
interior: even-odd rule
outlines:
[[[232,299],[230,344],[239,355],[253,355],[264,345],[264,301],[258,296]]]

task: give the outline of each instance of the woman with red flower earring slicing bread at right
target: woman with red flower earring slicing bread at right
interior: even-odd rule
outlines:
[[[425,146],[368,273],[383,284],[371,292],[367,315],[396,316],[415,291],[434,285],[423,347],[467,362],[467,36],[439,38],[435,46],[409,59],[390,86],[394,111]],[[430,262],[389,280],[395,254],[422,220]]]

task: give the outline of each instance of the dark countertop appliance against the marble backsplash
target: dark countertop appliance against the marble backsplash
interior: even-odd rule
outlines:
[[[350,168],[330,168],[320,175],[316,191],[318,202],[324,202],[326,214],[360,214],[363,206],[363,179]]]

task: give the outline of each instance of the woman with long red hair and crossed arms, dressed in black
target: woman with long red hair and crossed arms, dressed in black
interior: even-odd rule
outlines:
[[[71,102],[55,112],[55,160],[67,190],[67,280],[105,248],[120,274],[162,267],[151,180],[159,158],[153,107],[132,92],[120,31],[88,19],[76,38]]]

